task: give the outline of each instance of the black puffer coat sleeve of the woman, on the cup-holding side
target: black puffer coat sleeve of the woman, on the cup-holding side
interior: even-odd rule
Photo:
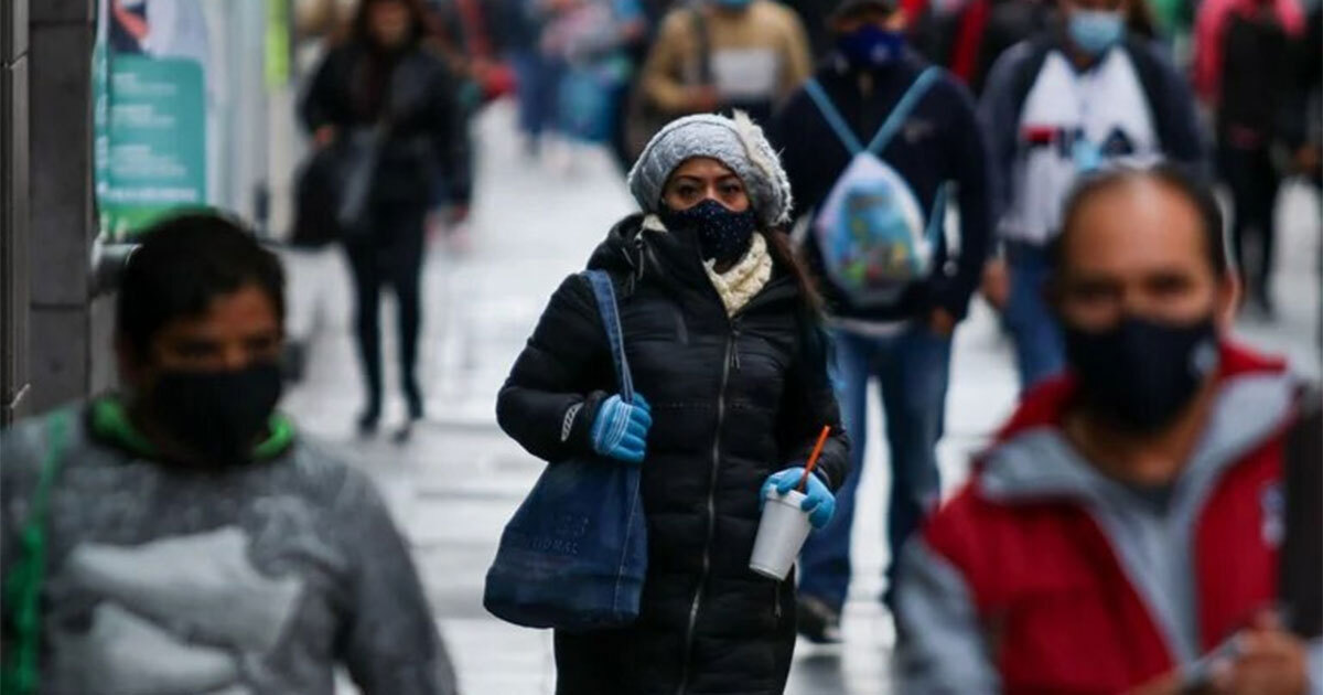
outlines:
[[[803,463],[812,454],[823,425],[831,426],[831,436],[814,470],[832,491],[840,488],[849,473],[849,437],[840,420],[840,406],[827,376],[830,346],[826,336],[815,336],[820,344],[799,351],[799,359],[786,379],[785,400],[781,408],[782,451],[789,451],[786,463]]]

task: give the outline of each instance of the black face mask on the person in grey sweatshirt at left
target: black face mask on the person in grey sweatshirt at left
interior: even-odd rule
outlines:
[[[165,432],[208,463],[246,463],[280,400],[280,367],[259,363],[235,371],[169,371],[149,394]]]

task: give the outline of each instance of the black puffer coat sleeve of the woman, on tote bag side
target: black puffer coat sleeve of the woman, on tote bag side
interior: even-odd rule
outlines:
[[[570,275],[542,311],[496,400],[496,421],[531,454],[544,461],[590,453],[590,430],[606,392],[610,368],[602,319],[587,282]]]

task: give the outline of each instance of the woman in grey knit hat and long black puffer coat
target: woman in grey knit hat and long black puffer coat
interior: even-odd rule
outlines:
[[[779,694],[795,643],[794,577],[749,569],[759,502],[798,482],[823,425],[832,437],[804,502],[815,527],[831,519],[848,469],[818,299],[779,230],[790,187],[762,131],[737,114],[663,128],[630,188],[643,214],[619,222],[589,267],[617,285],[642,398],[613,394],[606,332],[574,275],[497,402],[501,428],[553,466],[597,453],[643,467],[639,620],[557,633],[557,692]]]

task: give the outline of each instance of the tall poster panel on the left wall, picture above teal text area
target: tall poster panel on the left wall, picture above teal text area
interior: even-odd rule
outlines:
[[[206,20],[197,0],[101,0],[94,50],[102,232],[206,200]]]

